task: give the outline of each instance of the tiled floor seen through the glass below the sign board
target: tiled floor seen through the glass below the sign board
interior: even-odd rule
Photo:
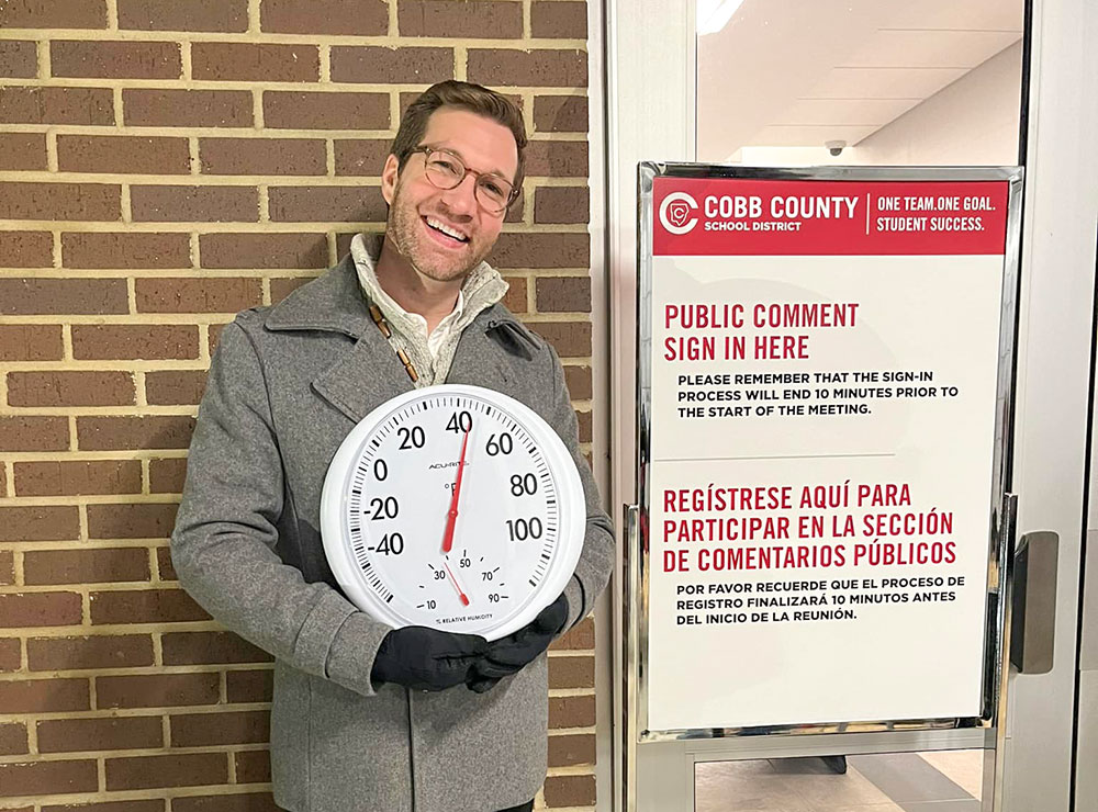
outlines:
[[[983,753],[710,762],[695,769],[695,812],[979,812]]]

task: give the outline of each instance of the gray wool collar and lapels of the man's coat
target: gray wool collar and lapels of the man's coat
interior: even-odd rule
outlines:
[[[413,388],[393,348],[370,318],[349,256],[271,307],[264,324],[269,330],[327,330],[356,339],[349,350],[339,353],[312,382],[317,394],[355,422],[385,401]],[[466,328],[450,377],[462,380],[460,366],[475,365],[477,358],[486,360],[492,343],[527,357],[541,348],[541,339],[511,311],[495,304]]]

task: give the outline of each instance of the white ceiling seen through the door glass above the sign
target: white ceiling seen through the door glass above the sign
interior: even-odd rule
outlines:
[[[698,38],[698,159],[860,140],[1022,35],[1022,0],[744,0]]]

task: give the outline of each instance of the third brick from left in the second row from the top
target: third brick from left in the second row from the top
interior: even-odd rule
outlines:
[[[199,81],[318,81],[321,55],[315,45],[194,43],[191,76]]]

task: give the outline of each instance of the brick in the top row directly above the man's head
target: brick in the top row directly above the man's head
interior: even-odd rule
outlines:
[[[396,7],[401,36],[447,36],[518,40],[523,36],[523,7],[491,0],[400,0]]]

